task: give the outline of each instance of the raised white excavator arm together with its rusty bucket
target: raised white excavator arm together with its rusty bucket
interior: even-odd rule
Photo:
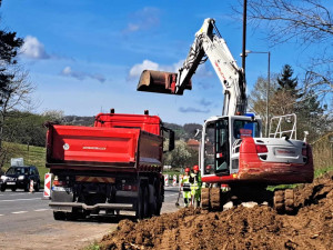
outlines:
[[[214,19],[204,20],[201,29],[195,33],[194,42],[178,73],[145,70],[141,74],[138,90],[183,94],[185,89],[192,89],[192,76],[199,64],[205,62],[205,56],[210,59],[224,89],[222,114],[243,114],[246,110],[243,72],[238,67],[224,39],[220,36]]]

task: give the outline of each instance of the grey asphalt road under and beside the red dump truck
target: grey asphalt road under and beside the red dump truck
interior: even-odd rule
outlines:
[[[162,213],[176,211],[176,187],[165,187]],[[0,249],[82,248],[117,228],[120,219],[133,219],[131,212],[118,218],[88,218],[83,221],[56,221],[49,200],[42,192],[0,193]],[[182,199],[180,199],[182,204]]]

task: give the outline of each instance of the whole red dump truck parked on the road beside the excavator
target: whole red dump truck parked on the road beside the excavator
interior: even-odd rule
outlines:
[[[99,113],[94,127],[47,127],[46,166],[54,174],[49,206],[56,220],[101,210],[107,214],[135,211],[139,219],[160,214],[163,142],[171,151],[174,132],[159,117],[111,110]]]

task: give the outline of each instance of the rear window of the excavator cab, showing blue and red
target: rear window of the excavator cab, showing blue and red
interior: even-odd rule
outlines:
[[[235,139],[260,137],[259,123],[256,121],[235,120],[233,122],[233,137]]]

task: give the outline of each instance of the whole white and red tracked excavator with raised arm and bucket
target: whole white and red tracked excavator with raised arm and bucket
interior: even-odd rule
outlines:
[[[266,188],[312,182],[311,147],[296,140],[295,114],[272,118],[269,137],[262,136],[260,117],[246,113],[244,71],[236,64],[214,19],[204,20],[178,72],[144,70],[137,90],[183,94],[184,90],[192,89],[192,77],[206,59],[223,87],[224,102],[222,116],[206,119],[202,129],[201,207],[221,210],[230,201],[233,204],[255,201],[268,202],[279,213],[294,212],[292,189],[269,191]],[[228,189],[222,188],[225,186]]]

